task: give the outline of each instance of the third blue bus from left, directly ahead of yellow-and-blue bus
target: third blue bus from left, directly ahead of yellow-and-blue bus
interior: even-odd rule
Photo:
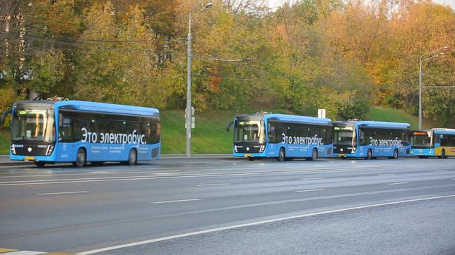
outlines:
[[[333,156],[398,158],[410,153],[410,125],[383,121],[333,122]]]

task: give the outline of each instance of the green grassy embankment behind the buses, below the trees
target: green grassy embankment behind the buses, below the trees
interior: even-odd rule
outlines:
[[[253,112],[242,111],[242,113]],[[284,113],[284,111],[273,111],[273,113]],[[230,153],[232,130],[226,132],[225,128],[235,114],[235,111],[196,112],[196,128],[192,131],[191,152],[193,154]],[[367,119],[405,122],[410,123],[413,129],[418,128],[418,118],[403,110],[372,108],[367,114]],[[161,123],[162,154],[184,154],[186,150],[184,111],[162,111]],[[424,120],[424,128],[430,128],[430,125],[431,123]],[[0,154],[8,153],[8,132],[0,130]]]

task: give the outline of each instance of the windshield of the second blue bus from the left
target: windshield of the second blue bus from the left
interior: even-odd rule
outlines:
[[[236,120],[234,142],[264,144],[264,124],[260,120]]]

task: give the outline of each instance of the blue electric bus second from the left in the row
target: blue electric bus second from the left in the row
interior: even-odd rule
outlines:
[[[235,116],[233,156],[315,160],[332,153],[332,124],[328,118],[256,113]]]

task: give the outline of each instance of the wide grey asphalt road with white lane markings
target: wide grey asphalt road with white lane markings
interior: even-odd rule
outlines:
[[[0,253],[455,254],[455,158],[0,166],[0,201]]]

